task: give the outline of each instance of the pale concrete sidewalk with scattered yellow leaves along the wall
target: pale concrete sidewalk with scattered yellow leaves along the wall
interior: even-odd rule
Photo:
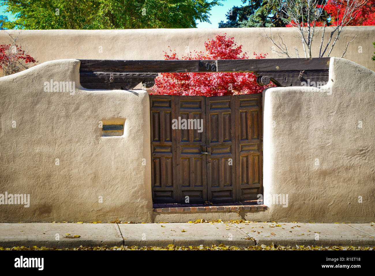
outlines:
[[[0,223],[0,246],[375,246],[374,223]]]

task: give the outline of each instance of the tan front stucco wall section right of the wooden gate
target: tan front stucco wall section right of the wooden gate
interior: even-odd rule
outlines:
[[[331,58],[329,79],[321,89],[263,92],[263,183],[271,220],[375,219],[375,72]],[[288,194],[288,207],[273,204],[275,194]]]

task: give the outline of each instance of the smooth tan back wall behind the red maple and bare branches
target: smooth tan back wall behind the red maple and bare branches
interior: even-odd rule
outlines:
[[[303,48],[296,37],[294,28],[267,28],[277,38],[278,31],[284,37],[289,51]],[[331,28],[326,28],[326,39]],[[19,30],[6,30],[17,34]],[[215,33],[227,33],[237,43],[243,45],[243,51],[251,56],[253,52],[268,53],[268,58],[278,58],[272,52],[269,39],[262,37],[263,28],[222,28],[222,29],[136,29],[136,30],[21,30],[22,43],[30,50],[31,56],[40,63],[63,58],[77,59],[163,59],[163,51],[176,50],[179,56],[193,50],[204,51],[204,42]],[[347,43],[345,58],[375,71],[374,54],[375,26],[347,27],[332,51],[331,57],[341,57]],[[8,43],[8,34],[0,31],[0,44]],[[313,57],[318,57],[321,33],[315,38]],[[168,48],[170,46],[171,48]]]

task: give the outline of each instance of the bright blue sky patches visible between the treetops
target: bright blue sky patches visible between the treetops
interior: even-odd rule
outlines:
[[[223,6],[216,6],[211,9],[211,16],[210,16],[210,23],[207,22],[197,22],[198,28],[217,28],[220,21],[226,21],[225,14],[228,12],[229,9],[233,6],[241,6],[242,1],[241,0],[226,0],[222,1]],[[6,8],[0,7],[0,15],[6,15],[9,20],[13,20],[13,16],[10,12],[4,12]]]

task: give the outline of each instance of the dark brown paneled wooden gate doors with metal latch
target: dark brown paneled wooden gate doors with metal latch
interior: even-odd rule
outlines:
[[[150,95],[154,203],[258,199],[261,94]]]

